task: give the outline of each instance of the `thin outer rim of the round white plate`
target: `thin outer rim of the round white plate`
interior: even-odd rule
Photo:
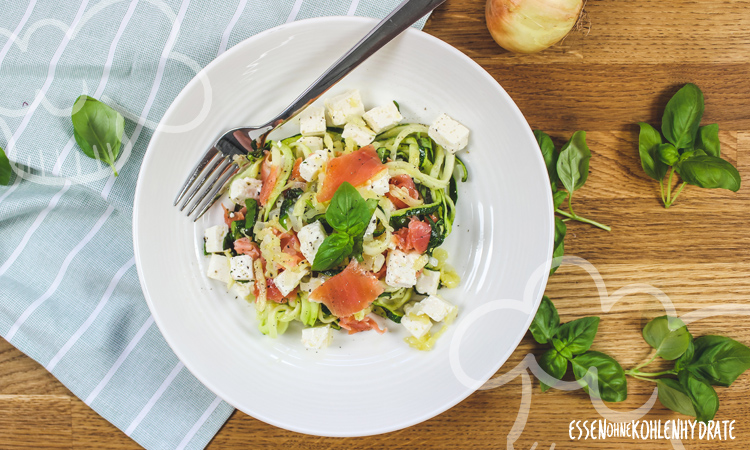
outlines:
[[[151,295],[148,291],[148,287],[146,286],[145,282],[145,275],[142,272],[141,269],[141,252],[139,252],[140,246],[139,246],[139,239],[138,239],[138,217],[139,217],[139,203],[140,199],[143,197],[144,193],[142,191],[143,183],[141,183],[142,177],[143,177],[143,168],[150,163],[151,159],[153,159],[155,151],[153,150],[153,142],[157,136],[160,134],[163,134],[164,131],[161,131],[161,123],[165,121],[165,119],[168,119],[171,114],[174,111],[175,105],[182,99],[184,95],[187,95],[186,92],[193,88],[195,84],[200,83],[200,78],[202,76],[206,76],[206,72],[209,71],[213,66],[219,64],[220,61],[222,61],[225,58],[230,58],[231,55],[234,53],[239,52],[243,47],[247,45],[252,45],[252,41],[255,39],[261,39],[262,37],[265,37],[269,34],[277,33],[280,31],[284,31],[288,28],[297,28],[297,27],[304,27],[309,26],[310,24],[316,24],[316,23],[326,23],[326,22],[359,22],[362,25],[369,25],[370,27],[374,26],[379,22],[379,20],[370,18],[370,17],[361,17],[361,16],[323,16],[323,17],[314,17],[309,19],[303,19],[303,20],[297,20],[293,22],[284,23],[281,25],[278,25],[273,28],[269,28],[267,30],[264,30],[260,33],[257,33],[253,36],[250,36],[241,42],[238,42],[234,46],[232,46],[230,49],[222,53],[221,55],[214,58],[211,62],[209,62],[204,68],[202,68],[180,91],[179,94],[172,100],[169,107],[164,112],[162,118],[159,121],[159,126],[154,130],[153,135],[151,136],[151,139],[149,140],[148,147],[146,148],[146,152],[144,154],[143,160],[141,162],[141,166],[139,168],[138,172],[138,178],[136,181],[136,187],[135,187],[135,194],[133,198],[133,216],[132,216],[132,233],[133,233],[133,250],[134,250],[134,256],[135,256],[135,266],[136,271],[138,274],[138,281],[141,286],[141,290],[143,292],[143,295],[146,299],[146,304],[148,305],[149,311],[151,313],[151,316],[154,319],[154,322],[156,323],[157,327],[159,328],[159,332],[164,337],[164,340],[169,345],[170,349],[174,352],[174,354],[177,356],[177,358],[184,364],[184,366],[190,371],[190,373],[201,383],[203,384],[207,389],[209,389],[211,392],[217,395],[221,400],[225,401],[229,405],[231,405],[233,408],[238,409],[242,411],[245,414],[248,414],[249,416],[260,420],[262,422],[265,422],[267,424],[273,425],[278,428],[282,428],[285,430],[302,433],[302,434],[308,434],[308,435],[315,435],[315,436],[327,436],[327,437],[364,437],[364,436],[373,436],[373,435],[379,435],[379,434],[385,434],[390,433],[393,431],[405,429],[412,427],[414,425],[417,425],[419,423],[425,422],[429,419],[432,419],[445,411],[453,408],[458,403],[464,401],[469,396],[471,396],[474,392],[478,390],[478,388],[471,388],[464,384],[464,389],[461,391],[459,395],[456,395],[452,399],[448,399],[445,403],[442,404],[441,407],[431,410],[430,412],[421,414],[414,419],[406,422],[399,423],[398,425],[394,425],[392,427],[383,427],[382,429],[372,429],[368,432],[346,432],[342,431],[340,433],[319,433],[315,430],[306,429],[304,426],[294,426],[290,425],[288,423],[283,423],[278,420],[274,420],[272,418],[269,418],[265,416],[260,411],[253,411],[252,414],[248,411],[246,411],[243,408],[240,408],[236,406],[232,401],[227,400],[224,389],[222,389],[220,386],[214,385],[210,380],[206,379],[200,371],[196,372],[194,369],[192,362],[189,362],[189,358],[186,358],[185,354],[178,350],[179,345],[176,345],[177,343],[173,341],[173,337],[170,337],[168,333],[164,332],[163,329],[163,322],[162,319],[157,312],[157,308],[154,305],[154,302],[151,298]],[[455,54],[458,58],[464,60],[466,63],[471,65],[475,70],[477,70],[483,77],[487,78],[494,87],[498,90],[500,95],[504,96],[506,100],[509,101],[509,106],[511,107],[511,110],[514,114],[518,114],[519,118],[522,119],[523,122],[526,123],[526,127],[523,127],[523,133],[527,134],[527,138],[531,138],[532,142],[535,142],[535,138],[533,135],[533,132],[531,130],[531,126],[528,124],[528,121],[526,120],[526,117],[524,116],[523,112],[520,110],[518,105],[513,101],[513,99],[510,97],[510,95],[505,91],[505,89],[500,85],[500,83],[489,73],[487,70],[485,70],[481,65],[479,65],[476,61],[474,61],[471,57],[463,53],[462,51],[458,50],[457,48],[453,47],[452,45],[448,44],[447,42],[443,41],[442,39],[435,37],[429,33],[426,33],[420,29],[416,29],[413,27],[408,28],[405,30],[402,35],[410,34],[418,39],[425,39],[432,45],[437,45],[439,47],[442,47],[444,50],[447,50],[453,54]],[[536,162],[540,166],[540,168],[543,170],[543,173],[546,173],[546,166],[544,165],[544,160],[542,158],[542,155],[540,153],[537,153],[536,155]],[[546,193],[546,203],[549,206],[550,210],[552,207],[552,194],[551,192]],[[187,219],[187,218],[186,218]],[[550,221],[548,224],[548,239],[547,239],[547,247],[548,247],[548,253],[552,253],[552,248],[554,245],[554,214],[550,214]],[[529,317],[526,321],[526,323],[523,326],[524,330],[528,330],[529,326],[531,325],[531,322],[534,318],[534,315],[536,314],[537,309],[539,308],[539,305],[541,304],[542,296],[544,294],[543,287],[546,286],[548,280],[549,280],[549,268],[551,267],[551,259],[548,259],[544,264],[546,267],[546,270],[543,272],[542,280],[540,281],[540,285],[542,286],[542,289],[540,290],[538,298],[534,299],[534,304],[531,308],[531,313],[529,314]],[[513,345],[508,346],[508,351],[503,357],[498,358],[498,362],[493,366],[493,370],[490,371],[486,376],[483,375],[478,380],[481,380],[482,383],[486,382],[492,376],[494,376],[497,371],[505,365],[505,363],[508,361],[510,356],[515,352],[515,350],[518,348],[518,345],[520,344],[523,337],[526,335],[526,332],[521,333],[516,339]]]

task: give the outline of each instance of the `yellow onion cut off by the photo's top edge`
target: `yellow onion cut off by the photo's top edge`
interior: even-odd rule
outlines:
[[[557,43],[578,21],[583,0],[487,0],[492,39],[515,53],[536,53]]]

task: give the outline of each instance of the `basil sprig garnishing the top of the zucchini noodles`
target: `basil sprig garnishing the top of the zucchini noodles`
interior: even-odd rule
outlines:
[[[325,238],[315,254],[312,270],[330,270],[362,247],[362,236],[377,207],[377,201],[365,200],[351,184],[336,189],[326,210],[326,222],[335,233]]]

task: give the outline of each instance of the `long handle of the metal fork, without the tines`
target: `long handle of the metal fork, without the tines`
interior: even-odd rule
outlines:
[[[365,37],[326,70],[315,82],[266,126],[279,127],[302,112],[328,89],[362,64],[373,53],[393,40],[414,22],[443,4],[446,0],[404,0],[381,20]]]

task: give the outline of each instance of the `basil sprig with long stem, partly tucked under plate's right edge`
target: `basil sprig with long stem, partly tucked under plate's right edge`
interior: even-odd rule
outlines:
[[[581,217],[573,211],[573,193],[583,187],[589,176],[589,161],[591,150],[586,145],[586,132],[576,131],[570,140],[562,146],[560,151],[555,150],[555,144],[549,135],[543,131],[534,131],[539,149],[542,151],[544,164],[547,166],[550,187],[552,189],[552,202],[556,213],[566,217],[555,223],[555,257],[562,256],[562,239],[565,237],[565,224],[562,221],[577,220],[579,222],[594,225],[603,230],[611,231],[607,225]],[[562,184],[562,186],[559,186]],[[562,190],[564,188],[565,190]],[[568,211],[560,209],[565,199],[568,199]],[[559,240],[557,238],[560,238]],[[558,255],[559,253],[559,255]],[[556,267],[553,268],[553,272]]]

